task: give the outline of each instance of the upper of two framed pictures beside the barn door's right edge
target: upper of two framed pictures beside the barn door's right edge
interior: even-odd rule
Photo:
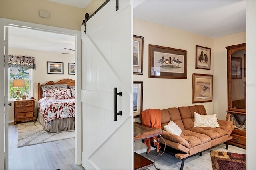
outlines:
[[[133,74],[143,74],[144,37],[133,35]]]

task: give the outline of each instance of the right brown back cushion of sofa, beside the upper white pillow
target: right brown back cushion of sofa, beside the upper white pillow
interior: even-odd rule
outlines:
[[[194,112],[201,115],[206,115],[204,105],[182,106],[178,107],[178,110],[180,111],[180,116],[186,130],[188,130],[188,128],[194,127]]]

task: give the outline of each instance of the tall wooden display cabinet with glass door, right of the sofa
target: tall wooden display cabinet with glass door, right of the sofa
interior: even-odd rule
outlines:
[[[228,144],[246,149],[246,43],[227,49],[228,110],[226,120],[233,121],[233,139]]]

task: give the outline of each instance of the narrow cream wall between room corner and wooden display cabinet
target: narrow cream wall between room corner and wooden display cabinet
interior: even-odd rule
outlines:
[[[214,39],[214,91],[213,111],[218,119],[226,119],[228,109],[227,50],[225,47],[246,43],[246,32]]]

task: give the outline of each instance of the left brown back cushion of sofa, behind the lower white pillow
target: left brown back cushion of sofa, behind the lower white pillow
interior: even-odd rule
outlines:
[[[178,125],[181,130],[185,130],[178,108],[172,107],[161,110],[161,128],[164,129],[164,126],[170,121]]]

